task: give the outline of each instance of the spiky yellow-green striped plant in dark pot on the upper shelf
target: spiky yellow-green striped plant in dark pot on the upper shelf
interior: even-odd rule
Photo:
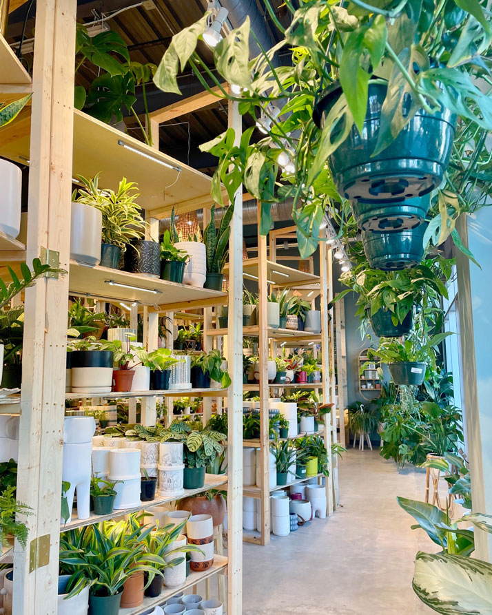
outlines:
[[[99,173],[93,179],[79,176],[83,185],[77,202],[99,209],[103,218],[101,266],[119,268],[121,253],[132,240],[140,240],[145,231],[142,210],[135,200],[139,196],[135,183],[123,178],[118,190],[98,187]]]

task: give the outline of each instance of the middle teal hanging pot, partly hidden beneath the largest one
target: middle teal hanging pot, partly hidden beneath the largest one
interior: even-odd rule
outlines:
[[[357,226],[365,231],[381,233],[418,227],[425,220],[430,205],[430,194],[398,202],[392,200],[377,203],[364,200],[351,202]]]

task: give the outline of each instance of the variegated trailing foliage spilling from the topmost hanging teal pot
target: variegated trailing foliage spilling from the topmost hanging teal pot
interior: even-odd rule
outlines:
[[[221,182],[231,199],[244,183],[261,203],[259,230],[267,234],[271,203],[292,197],[301,256],[312,253],[325,209],[342,221],[348,205],[337,194],[327,157],[352,129],[362,131],[369,81],[380,79],[387,84],[387,94],[377,152],[393,142],[418,110],[432,114],[447,108],[460,118],[464,134],[458,129],[460,147],[455,148],[446,184],[433,197],[438,213],[434,209],[427,234],[428,239],[441,242],[451,233],[460,244],[455,218],[460,211],[486,202],[473,196],[475,178],[490,190],[486,179],[490,144],[485,143],[492,128],[489,11],[471,0],[392,4],[353,0],[346,6],[307,0],[299,8],[290,1],[285,6],[291,13],[287,29],[278,21],[270,0],[265,0],[280,42],[271,50],[261,49],[254,59],[249,60],[247,18],[216,45],[213,54],[218,74],[211,70],[196,53],[207,27],[205,14],[173,37],[154,75],[161,90],[181,94],[176,76],[189,63],[207,90],[216,86],[218,96],[238,101],[240,113],[252,116],[254,123],[265,118],[265,137],[255,143],[252,127],[238,145],[234,131],[228,129],[202,146],[218,157],[212,189],[216,202],[223,205]],[[291,64],[279,66],[272,59],[283,48],[291,51]],[[222,80],[237,85],[242,93],[227,92]],[[334,83],[341,87],[320,130],[312,119],[316,96]],[[408,113],[401,112],[403,102]],[[467,143],[480,145],[478,154]],[[290,158],[284,167],[279,161],[285,156],[280,154]],[[335,208],[336,201],[342,201],[341,210]]]

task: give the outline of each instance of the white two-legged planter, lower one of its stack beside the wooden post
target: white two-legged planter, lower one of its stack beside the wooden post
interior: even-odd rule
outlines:
[[[70,521],[72,517],[75,490],[77,492],[77,517],[79,517],[79,519],[89,518],[91,465],[92,439],[90,442],[85,442],[83,444],[63,443],[61,480],[70,483],[70,487],[66,493],[68,510],[70,511],[68,521]]]

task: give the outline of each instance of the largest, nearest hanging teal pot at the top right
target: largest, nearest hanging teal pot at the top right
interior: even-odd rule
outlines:
[[[335,83],[318,96],[313,110],[318,127],[324,125],[341,92],[340,84]],[[369,82],[362,132],[353,125],[349,136],[329,156],[336,187],[350,200],[401,201],[423,196],[440,185],[449,164],[456,116],[447,108],[435,114],[418,110],[396,139],[371,157],[378,141],[386,94],[385,83]],[[402,114],[408,111],[403,108]]]

